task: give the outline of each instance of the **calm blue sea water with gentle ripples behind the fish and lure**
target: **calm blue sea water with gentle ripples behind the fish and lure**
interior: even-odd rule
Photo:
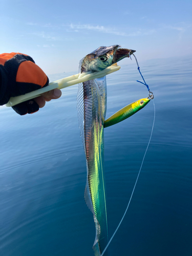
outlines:
[[[138,59],[139,61],[139,59]],[[135,61],[107,76],[106,118],[147,97]],[[192,255],[192,87],[190,57],[140,62],[155,96],[151,144],[111,256]],[[120,63],[119,63],[120,65]],[[50,80],[74,74],[49,76]],[[0,108],[0,254],[94,255],[93,215],[84,202],[86,160],[77,86],[33,115]],[[105,180],[109,237],[129,202],[153,124],[153,102],[108,127]]]

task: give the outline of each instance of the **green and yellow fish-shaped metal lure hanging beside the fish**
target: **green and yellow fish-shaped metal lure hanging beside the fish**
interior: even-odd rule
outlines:
[[[124,108],[117,111],[115,114],[113,114],[111,117],[109,117],[108,119],[106,119],[104,121],[104,128],[114,125],[116,123],[119,123],[119,122],[125,120],[126,118],[134,115],[139,110],[144,108],[144,106],[146,106],[146,104],[148,104],[148,102],[150,102],[150,100],[151,99],[149,99],[149,98],[143,98],[143,99],[134,101],[133,103],[131,103],[127,106],[124,106]]]

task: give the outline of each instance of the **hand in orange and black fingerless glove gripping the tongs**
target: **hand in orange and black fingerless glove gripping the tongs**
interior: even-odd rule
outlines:
[[[0,105],[6,104],[10,97],[24,95],[48,84],[49,78],[30,56],[22,53],[0,54]],[[46,101],[60,96],[61,91],[55,89],[12,108],[19,115],[32,114],[42,108]]]

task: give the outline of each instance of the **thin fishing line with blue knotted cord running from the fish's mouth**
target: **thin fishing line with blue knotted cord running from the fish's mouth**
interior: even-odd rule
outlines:
[[[134,55],[134,54],[133,54],[133,55]],[[135,55],[134,55],[134,57],[135,57]],[[136,57],[135,57],[135,59],[136,59]],[[137,59],[136,59],[136,62],[137,62]],[[137,62],[137,66],[138,66],[138,70],[139,70],[138,62]],[[141,74],[140,70],[139,70],[139,73]],[[142,76],[142,75],[141,75],[141,76]],[[142,78],[143,78],[143,76],[142,76]],[[144,80],[144,78],[143,78],[143,80]],[[140,82],[140,81],[137,81],[137,82]],[[144,82],[145,82],[145,80],[144,80]],[[143,82],[141,82],[141,83],[143,83]],[[143,83],[143,84],[144,84],[145,86],[147,86],[146,83]],[[148,86],[147,86],[147,89],[148,89],[149,95],[150,95],[150,93],[152,93],[152,92],[150,92],[150,89],[148,88]],[[152,95],[150,95],[150,98],[151,98],[151,99],[154,98],[153,93],[152,93]],[[127,207],[126,207],[126,210],[125,210],[125,212],[124,212],[124,214],[123,214],[123,217],[122,217],[121,221],[119,222],[119,225],[117,226],[115,232],[113,233],[113,236],[111,237],[110,241],[108,242],[108,244],[107,244],[106,247],[104,248],[104,250],[103,250],[101,256],[103,256],[104,252],[106,251],[106,249],[107,249],[108,246],[110,245],[112,239],[114,238],[114,236],[115,236],[117,230],[119,229],[119,227],[120,227],[120,225],[121,225],[121,223],[122,223],[122,221],[123,221],[123,219],[124,219],[124,217],[125,217],[125,215],[126,215],[126,212],[127,212],[128,208],[129,208],[129,206],[130,206],[130,203],[131,203],[131,200],[132,200],[132,197],[133,197],[133,193],[134,193],[134,191],[135,191],[135,187],[136,187],[137,181],[138,181],[138,179],[139,179],[139,175],[140,175],[140,172],[141,172],[141,168],[142,168],[142,166],[143,166],[143,162],[144,162],[144,159],[145,159],[145,155],[146,155],[146,152],[147,152],[147,150],[148,150],[148,146],[150,145],[151,138],[152,138],[152,134],[153,134],[154,123],[155,123],[155,103],[154,103],[154,100],[153,100],[153,105],[154,105],[154,119],[153,119],[153,125],[152,125],[152,132],[151,132],[150,140],[148,141],[148,144],[147,144],[147,147],[146,147],[144,156],[143,156],[143,160],[142,160],[142,163],[141,163],[141,167],[140,167],[140,169],[139,169],[139,173],[138,173],[138,175],[137,175],[137,179],[136,179],[136,182],[135,182],[135,185],[134,185],[134,188],[133,188],[133,191],[132,191],[132,194],[131,194],[129,203],[128,203]]]

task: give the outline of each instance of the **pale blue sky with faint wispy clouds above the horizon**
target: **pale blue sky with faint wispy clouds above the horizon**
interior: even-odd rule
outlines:
[[[139,62],[192,54],[191,0],[0,0],[0,10],[0,52],[28,54],[47,74],[77,71],[99,46],[134,49]]]

